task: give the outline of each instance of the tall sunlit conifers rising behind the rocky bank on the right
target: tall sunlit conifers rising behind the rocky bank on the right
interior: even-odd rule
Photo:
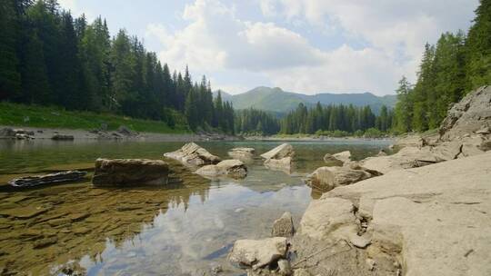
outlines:
[[[445,33],[426,44],[416,84],[406,77],[396,90],[398,133],[435,129],[452,104],[491,84],[491,0],[481,0],[467,34]]]

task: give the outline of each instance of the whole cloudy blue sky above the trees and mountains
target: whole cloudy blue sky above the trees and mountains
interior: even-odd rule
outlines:
[[[426,42],[467,31],[478,0],[58,0],[125,28],[171,70],[214,89],[395,94]]]

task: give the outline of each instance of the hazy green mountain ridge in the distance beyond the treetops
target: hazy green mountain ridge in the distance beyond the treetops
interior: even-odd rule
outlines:
[[[281,88],[260,86],[244,94],[225,94],[222,92],[222,98],[232,102],[235,109],[246,109],[254,107],[272,111],[276,113],[286,113],[296,108],[300,103],[306,106],[313,106],[320,102],[321,104],[353,104],[356,106],[370,105],[375,113],[383,104],[389,108],[396,106],[396,95],[376,96],[371,93],[361,94],[297,94],[283,91]]]

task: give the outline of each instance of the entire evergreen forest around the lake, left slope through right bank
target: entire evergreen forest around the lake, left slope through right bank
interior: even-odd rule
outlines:
[[[0,2],[0,101],[60,106],[185,124],[195,132],[360,134],[435,129],[467,92],[491,84],[491,0],[482,0],[468,33],[442,34],[426,44],[416,84],[403,76],[395,110],[321,105],[278,118],[235,111],[214,98],[205,76],[171,71],[138,37],[111,36],[102,17],[73,18],[56,0]]]

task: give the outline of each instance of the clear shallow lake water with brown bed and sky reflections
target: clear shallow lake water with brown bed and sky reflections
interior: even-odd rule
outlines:
[[[173,163],[182,182],[171,187],[100,189],[89,179],[21,191],[0,186],[0,274],[57,275],[70,266],[89,275],[212,275],[216,265],[223,275],[240,274],[226,261],[231,244],[269,236],[286,211],[297,223],[320,195],[302,177],[323,165],[325,153],[350,150],[361,159],[389,142],[291,142],[297,160],[291,174],[267,170],[258,157],[280,143],[200,143],[222,158],[234,147],[256,148],[240,181],[205,180]],[[158,159],[183,144],[0,141],[0,183],[25,174],[90,172],[97,157]]]

